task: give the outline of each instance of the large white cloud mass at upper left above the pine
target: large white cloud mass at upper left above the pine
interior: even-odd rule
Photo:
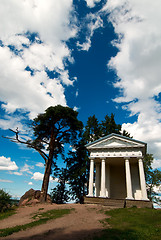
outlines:
[[[50,105],[67,105],[65,86],[75,81],[65,43],[77,33],[73,14],[72,0],[0,3],[0,101],[7,112],[23,109],[34,118]]]

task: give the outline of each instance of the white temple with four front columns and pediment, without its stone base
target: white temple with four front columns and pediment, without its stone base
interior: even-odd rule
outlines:
[[[143,157],[147,144],[118,134],[89,143],[87,197],[148,201]]]

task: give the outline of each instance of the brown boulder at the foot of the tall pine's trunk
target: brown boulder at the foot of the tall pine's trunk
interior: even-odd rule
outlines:
[[[34,189],[30,189],[29,191],[27,191],[21,198],[19,201],[19,206],[26,206],[26,205],[36,205],[37,203],[40,203],[41,199],[41,191],[40,190],[34,190]],[[52,203],[51,201],[51,197],[48,194],[47,195],[47,203]]]

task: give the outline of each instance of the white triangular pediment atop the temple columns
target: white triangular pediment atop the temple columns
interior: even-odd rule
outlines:
[[[146,143],[118,134],[110,134],[86,145],[87,149],[144,148]]]

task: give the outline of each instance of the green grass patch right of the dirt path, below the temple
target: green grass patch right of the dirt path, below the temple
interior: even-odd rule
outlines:
[[[124,208],[107,211],[110,227],[94,240],[159,240],[161,239],[161,210]]]

